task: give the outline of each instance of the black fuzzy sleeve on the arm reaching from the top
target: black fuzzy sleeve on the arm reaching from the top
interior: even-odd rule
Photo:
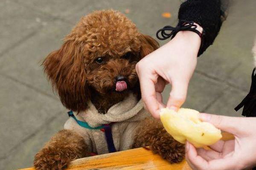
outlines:
[[[178,19],[194,21],[204,29],[198,56],[203,54],[217,37],[223,14],[221,0],[186,0],[180,5]]]

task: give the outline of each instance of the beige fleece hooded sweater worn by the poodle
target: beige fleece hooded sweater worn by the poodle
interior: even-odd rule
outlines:
[[[137,98],[133,94],[113,105],[106,114],[99,113],[92,102],[89,102],[86,111],[79,114],[74,113],[74,115],[76,119],[87,122],[90,127],[99,127],[114,122],[111,125],[111,130],[117,151],[131,149],[137,125],[150,116],[143,108],[142,100],[137,102]],[[105,133],[102,130],[82,127],[72,117],[67,120],[64,129],[74,130],[82,136],[90,152],[108,153]]]

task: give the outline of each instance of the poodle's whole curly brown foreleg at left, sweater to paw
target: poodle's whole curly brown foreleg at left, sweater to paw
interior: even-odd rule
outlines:
[[[84,139],[71,130],[61,130],[35,155],[36,170],[63,170],[67,164],[88,156]]]

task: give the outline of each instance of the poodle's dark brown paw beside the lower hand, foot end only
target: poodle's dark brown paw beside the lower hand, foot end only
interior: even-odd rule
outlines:
[[[154,136],[150,149],[170,163],[180,162],[185,157],[184,144],[175,141],[164,129],[160,130],[157,136]]]

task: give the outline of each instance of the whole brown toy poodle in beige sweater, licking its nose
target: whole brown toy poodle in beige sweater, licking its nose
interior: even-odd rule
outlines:
[[[171,163],[184,157],[159,120],[144,110],[136,63],[159,47],[124,14],[95,11],[82,17],[44,71],[70,118],[35,155],[37,170],[62,170],[74,159],[150,146]]]

